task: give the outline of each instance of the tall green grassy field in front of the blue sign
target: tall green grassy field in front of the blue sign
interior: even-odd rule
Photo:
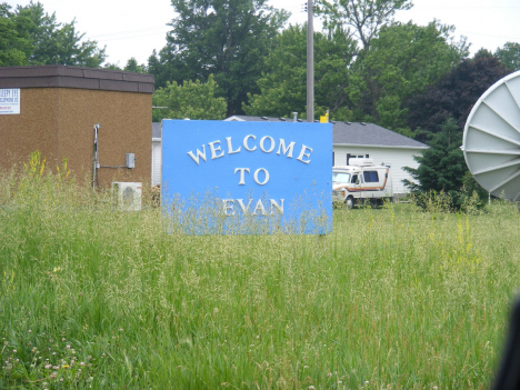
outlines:
[[[0,204],[1,389],[484,389],[520,286],[504,203],[181,236],[28,167]]]

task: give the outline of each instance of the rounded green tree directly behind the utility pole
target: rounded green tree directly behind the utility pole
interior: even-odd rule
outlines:
[[[316,113],[331,111],[331,118],[347,120],[344,88],[348,66],[356,43],[337,29],[328,34],[314,32]],[[248,93],[243,111],[250,116],[290,117],[307,111],[307,28],[290,26],[282,31],[264,61],[266,72],[258,80],[260,93]]]

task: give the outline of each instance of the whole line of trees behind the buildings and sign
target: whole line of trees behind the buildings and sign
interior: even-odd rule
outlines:
[[[0,66],[59,63],[152,73],[153,104],[167,107],[153,110],[154,121],[290,118],[292,112],[306,118],[306,24],[288,26],[289,13],[267,0],[171,4],[177,17],[167,44],[148,63],[131,58],[121,68],[106,62],[106,48],[83,40],[74,20],[58,22],[39,2],[16,9],[0,3]],[[429,182],[423,190],[458,189],[463,174],[452,168],[466,170],[458,150],[466,119],[492,83],[520,69],[520,44],[507,42],[470,57],[470,43],[456,39],[452,26],[393,19],[411,7],[411,0],[316,1],[323,29],[314,32],[314,112],[317,118],[329,111],[331,120],[377,123],[429,143],[433,152],[453,154],[443,162],[451,179],[421,180],[424,172],[411,173]],[[421,167],[437,159],[428,157],[431,149]]]

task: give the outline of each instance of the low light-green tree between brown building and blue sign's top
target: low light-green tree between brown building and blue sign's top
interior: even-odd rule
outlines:
[[[156,90],[152,97],[156,108],[152,120],[159,122],[169,119],[224,119],[226,100],[216,96],[218,84],[212,74],[208,81],[184,81],[182,86],[176,81],[167,82],[164,88]]]

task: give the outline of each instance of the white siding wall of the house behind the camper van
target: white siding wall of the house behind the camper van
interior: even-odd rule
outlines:
[[[384,163],[386,166],[390,166],[394,194],[410,192],[402,183],[402,180],[412,180],[412,178],[402,168],[418,168],[419,163],[413,160],[413,156],[421,156],[421,149],[410,148],[350,147],[334,144],[332,150],[334,152],[334,166],[346,166],[347,153],[350,153],[352,157],[366,157],[366,154],[369,154],[369,158],[373,160],[374,164]]]

